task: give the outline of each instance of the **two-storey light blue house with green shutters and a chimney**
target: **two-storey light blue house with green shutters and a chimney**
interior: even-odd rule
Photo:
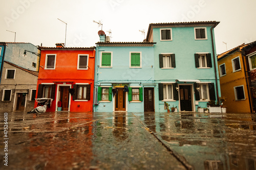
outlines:
[[[103,31],[99,31],[99,36],[94,111],[155,111],[155,43],[108,42]]]

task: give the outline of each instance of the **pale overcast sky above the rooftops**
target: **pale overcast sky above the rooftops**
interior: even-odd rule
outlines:
[[[0,41],[90,47],[103,23],[115,42],[140,42],[150,23],[220,21],[215,28],[217,54],[256,40],[256,0],[1,0]],[[225,43],[223,43],[225,42]]]

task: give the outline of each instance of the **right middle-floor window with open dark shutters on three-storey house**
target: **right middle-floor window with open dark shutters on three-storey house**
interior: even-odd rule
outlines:
[[[197,68],[210,68],[211,64],[211,54],[210,53],[196,53],[195,63]]]

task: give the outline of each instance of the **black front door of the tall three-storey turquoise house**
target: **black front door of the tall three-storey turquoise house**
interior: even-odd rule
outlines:
[[[191,86],[180,85],[180,110],[192,111]]]

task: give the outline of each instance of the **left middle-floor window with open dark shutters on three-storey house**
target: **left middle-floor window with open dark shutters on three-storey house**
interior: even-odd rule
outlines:
[[[175,54],[159,54],[160,68],[175,68]]]

